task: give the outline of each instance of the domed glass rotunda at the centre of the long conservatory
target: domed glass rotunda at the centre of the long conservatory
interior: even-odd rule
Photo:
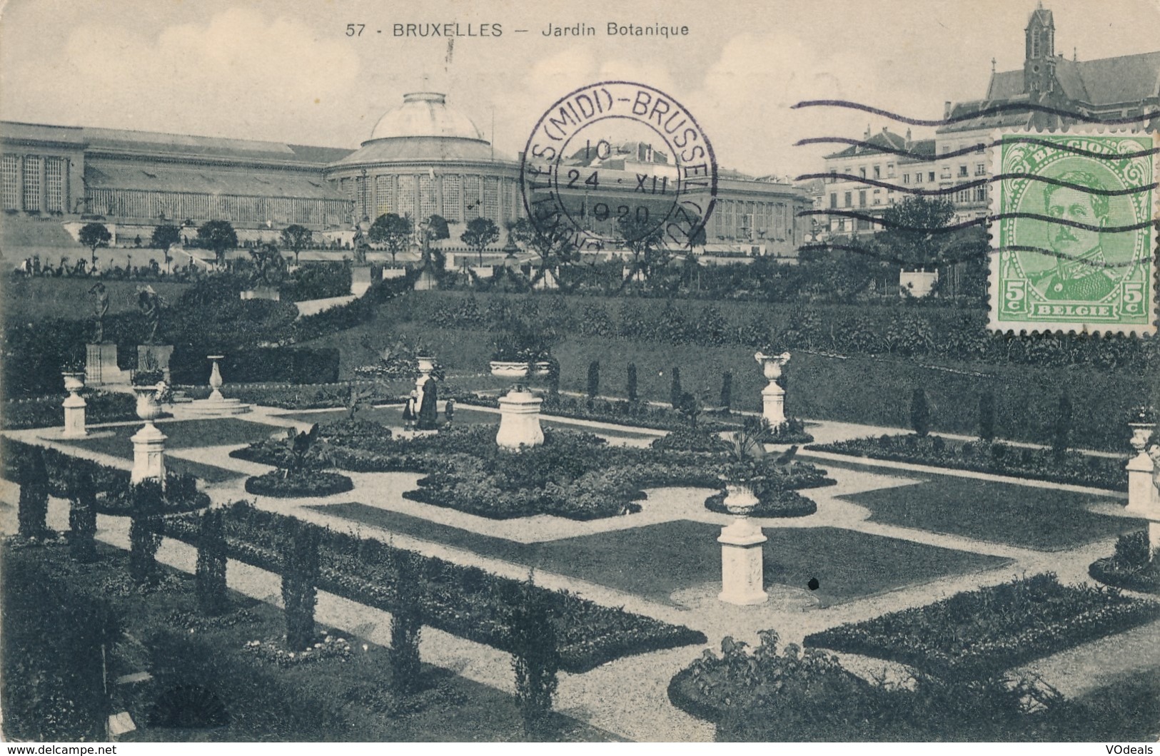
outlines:
[[[413,92],[379,118],[370,139],[329,165],[326,179],[357,218],[393,212],[421,220],[442,216],[451,238],[472,218],[500,227],[522,211],[519,166],[496,153],[478,126],[437,92]]]

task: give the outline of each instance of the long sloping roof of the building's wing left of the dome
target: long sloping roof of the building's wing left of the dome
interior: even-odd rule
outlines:
[[[135,165],[121,161],[87,161],[87,189],[151,189],[211,195],[341,199],[321,176],[306,173],[201,169],[182,165]]]

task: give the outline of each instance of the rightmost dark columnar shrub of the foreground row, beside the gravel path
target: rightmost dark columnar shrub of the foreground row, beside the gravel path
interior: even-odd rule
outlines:
[[[541,734],[552,711],[558,685],[560,654],[551,606],[531,583],[522,587],[517,603],[508,615],[512,668],[515,670],[515,700],[523,715],[524,729]]]

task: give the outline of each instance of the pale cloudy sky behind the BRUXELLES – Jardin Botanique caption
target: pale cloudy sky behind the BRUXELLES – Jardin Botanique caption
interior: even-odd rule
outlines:
[[[1067,57],[1160,49],[1160,0],[1045,7]],[[404,93],[434,89],[514,157],[557,99],[623,79],[683,103],[722,166],[795,176],[820,172],[835,150],[792,146],[798,139],[906,126],[791,106],[843,99],[941,117],[944,101],[985,94],[992,58],[999,71],[1022,66],[1034,8],[1032,0],[8,0],[0,119],[354,148]],[[607,36],[609,22],[689,34]],[[362,35],[347,36],[350,23],[365,24]],[[403,38],[392,34],[397,23],[458,23],[464,32],[499,23],[503,32]],[[597,34],[545,37],[549,23]]]

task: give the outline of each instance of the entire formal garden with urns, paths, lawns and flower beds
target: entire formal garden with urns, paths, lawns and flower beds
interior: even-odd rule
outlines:
[[[6,734],[1160,733],[1146,654],[1028,671],[1160,621],[1154,340],[817,270],[348,299],[357,266],[285,262],[110,277],[93,318],[77,276],[6,292]]]

